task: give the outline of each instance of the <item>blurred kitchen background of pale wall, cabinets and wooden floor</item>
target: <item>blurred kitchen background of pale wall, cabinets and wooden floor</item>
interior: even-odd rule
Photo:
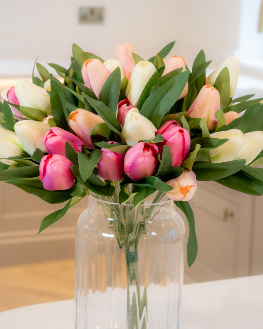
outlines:
[[[263,96],[261,0],[14,0],[1,4],[0,91],[32,77],[34,63],[70,65],[73,43],[106,59],[130,41],[144,59],[176,40],[172,55],[189,68],[203,49],[213,60],[208,73],[228,56],[241,60],[235,97]],[[86,200],[38,237],[41,220],[62,208],[0,182],[0,311],[74,297],[74,235]],[[262,197],[199,184],[191,201],[199,242],[184,282],[263,273]],[[187,225],[187,224],[186,224]],[[188,237],[188,235],[186,235]]]

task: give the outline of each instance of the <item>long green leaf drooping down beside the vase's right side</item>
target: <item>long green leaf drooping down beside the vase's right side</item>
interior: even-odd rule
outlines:
[[[174,201],[175,205],[184,213],[189,225],[189,237],[187,242],[186,256],[188,266],[192,266],[197,256],[197,238],[195,232],[195,217],[188,201]]]

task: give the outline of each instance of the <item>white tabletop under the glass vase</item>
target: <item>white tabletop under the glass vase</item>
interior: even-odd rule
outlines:
[[[74,316],[74,300],[37,304],[1,312],[0,328],[74,329]],[[180,329],[248,328],[263,328],[263,275],[183,286]]]

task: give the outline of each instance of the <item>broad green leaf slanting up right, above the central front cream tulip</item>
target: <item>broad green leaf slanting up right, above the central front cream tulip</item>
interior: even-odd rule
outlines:
[[[175,76],[160,88],[155,90],[144,102],[140,114],[148,118],[156,128],[163,116],[174,105],[187,82],[189,72],[185,71]]]

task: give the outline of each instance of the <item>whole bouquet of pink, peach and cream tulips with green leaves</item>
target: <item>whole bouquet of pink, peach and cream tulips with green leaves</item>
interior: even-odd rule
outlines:
[[[203,51],[192,71],[169,54],[174,42],[148,61],[131,43],[104,61],[73,45],[69,69],[39,63],[41,78],[19,80],[2,92],[0,179],[49,203],[65,206],[46,216],[39,232],[86,194],[134,207],[155,193],[174,200],[189,224],[187,260],[197,254],[188,203],[197,180],[214,180],[262,195],[262,99],[233,99],[239,61],[228,58],[206,78]]]

